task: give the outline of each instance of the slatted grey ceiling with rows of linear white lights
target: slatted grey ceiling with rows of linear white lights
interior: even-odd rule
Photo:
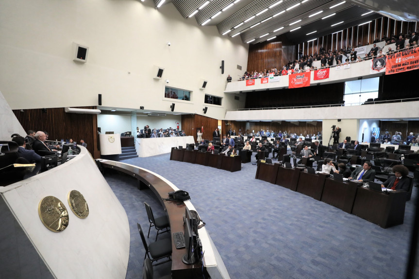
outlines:
[[[153,1],[157,7],[162,0]],[[392,0],[383,0],[387,1]],[[184,18],[194,17],[200,25],[216,25],[220,34],[239,35],[250,44],[282,34],[293,44],[307,42],[379,18],[386,7],[359,3],[360,7],[351,3],[355,0],[166,0],[163,5],[169,2]],[[402,8],[409,7],[409,3],[415,7],[413,10],[417,9],[412,0],[405,0]],[[390,12],[395,15],[397,9]],[[405,17],[412,20],[415,16]]]

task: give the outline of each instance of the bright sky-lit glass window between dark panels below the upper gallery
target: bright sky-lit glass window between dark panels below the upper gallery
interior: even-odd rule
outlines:
[[[378,98],[378,84],[380,78],[345,82],[343,100],[345,106],[361,105],[366,101]]]

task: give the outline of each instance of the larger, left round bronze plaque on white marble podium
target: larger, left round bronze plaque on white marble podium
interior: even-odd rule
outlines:
[[[59,232],[68,226],[68,213],[64,203],[56,197],[48,196],[41,199],[38,214],[42,223],[49,230]]]

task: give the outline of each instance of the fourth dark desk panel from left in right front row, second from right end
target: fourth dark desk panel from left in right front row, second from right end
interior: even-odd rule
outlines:
[[[357,188],[358,183],[356,182],[342,182],[327,178],[324,181],[323,194],[320,200],[344,212],[352,213]]]

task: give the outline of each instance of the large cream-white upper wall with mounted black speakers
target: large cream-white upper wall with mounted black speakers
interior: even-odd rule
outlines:
[[[97,105],[102,94],[103,106],[168,111],[176,102],[176,112],[202,114],[207,93],[223,98],[206,114],[219,119],[237,107],[223,93],[227,75],[242,74],[236,65],[248,58],[239,37],[152,1],[2,1],[0,38],[0,90],[12,109]],[[72,61],[73,42],[90,48],[87,63]],[[163,80],[153,80],[154,65],[165,68]],[[192,91],[192,101],[164,99],[164,79]]]

